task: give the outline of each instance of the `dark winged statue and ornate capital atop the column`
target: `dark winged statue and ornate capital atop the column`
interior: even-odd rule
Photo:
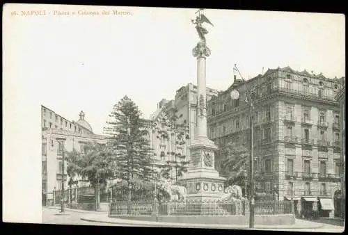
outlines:
[[[210,56],[210,49],[207,47],[206,39],[205,39],[205,34],[209,33],[205,27],[203,27],[203,23],[212,24],[212,22],[209,21],[205,15],[200,13],[200,11],[203,9],[199,9],[196,13],[198,13],[198,16],[196,19],[192,19],[191,22],[192,24],[196,24],[196,30],[198,33],[198,36],[200,38],[200,42],[197,43],[196,47],[193,49],[192,53],[193,56]]]

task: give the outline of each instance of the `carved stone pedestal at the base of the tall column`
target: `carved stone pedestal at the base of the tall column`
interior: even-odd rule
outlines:
[[[191,165],[180,182],[187,188],[187,200],[218,200],[223,197],[223,182],[214,169],[217,147],[208,138],[196,138],[189,146]]]

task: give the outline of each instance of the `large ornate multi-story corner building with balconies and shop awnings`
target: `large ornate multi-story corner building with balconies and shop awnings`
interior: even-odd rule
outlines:
[[[209,101],[208,136],[219,146],[250,143],[250,91],[255,170],[263,174],[260,190],[294,200],[299,213],[319,209],[333,216],[333,195],[340,189],[340,106],[334,99],[340,88],[340,79],[322,74],[269,69]],[[238,100],[230,97],[233,89],[239,90]],[[217,170],[225,157],[216,153]]]

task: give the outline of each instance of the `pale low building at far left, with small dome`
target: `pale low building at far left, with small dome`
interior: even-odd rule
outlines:
[[[61,190],[62,187],[62,167],[63,167],[63,147],[66,151],[76,149],[84,152],[84,145],[88,142],[106,143],[105,136],[93,133],[90,124],[85,120],[84,112],[79,114],[77,122],[70,122],[61,115],[54,113],[49,108],[41,106],[42,111],[42,193],[47,195],[54,188]],[[68,188],[70,178],[65,173],[65,188]],[[79,186],[84,186],[87,181],[80,180]]]

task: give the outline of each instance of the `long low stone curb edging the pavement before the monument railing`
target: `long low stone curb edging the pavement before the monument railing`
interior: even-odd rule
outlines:
[[[97,219],[91,219],[91,218],[84,218],[81,217],[81,220],[88,221],[88,222],[101,222],[101,223],[108,223],[108,224],[114,224],[114,225],[125,225],[125,226],[135,226],[135,227],[155,227],[156,225],[146,225],[143,223],[136,223],[136,222],[127,222],[124,220],[119,220],[119,221],[107,221],[107,220],[97,220]],[[130,220],[134,221],[134,220]],[[142,221],[143,222],[143,221]],[[184,223],[177,223],[176,225],[173,225],[171,223],[162,223],[162,222],[156,222],[157,226],[156,227],[191,227],[191,228],[217,228],[217,229],[249,229],[248,227],[229,227],[228,225],[225,226],[219,226],[219,225],[190,225],[190,224],[184,224]],[[324,225],[319,224],[317,226],[297,226],[297,227],[259,227],[255,226],[254,229],[249,229],[249,230],[268,230],[268,229],[319,229],[321,227],[324,227]]]

